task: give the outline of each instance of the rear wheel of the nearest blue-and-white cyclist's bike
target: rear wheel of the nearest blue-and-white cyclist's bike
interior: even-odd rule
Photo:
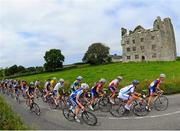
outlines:
[[[72,110],[69,109],[69,107],[63,108],[63,115],[68,121],[74,121],[75,120],[75,114],[72,112]]]

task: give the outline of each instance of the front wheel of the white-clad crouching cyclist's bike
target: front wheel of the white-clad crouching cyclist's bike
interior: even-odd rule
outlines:
[[[146,116],[148,114],[148,110],[146,109],[147,103],[145,101],[137,102],[133,106],[133,113],[137,116]]]

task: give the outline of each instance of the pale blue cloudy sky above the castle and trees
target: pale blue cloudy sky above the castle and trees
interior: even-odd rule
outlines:
[[[180,0],[0,0],[0,67],[42,66],[60,49],[64,64],[80,62],[95,42],[122,54],[121,27],[152,28],[169,17],[180,55]]]

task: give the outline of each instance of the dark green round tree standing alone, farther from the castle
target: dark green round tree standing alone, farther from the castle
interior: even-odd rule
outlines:
[[[46,71],[54,71],[56,68],[62,68],[64,56],[59,49],[50,49],[46,51],[44,59],[46,63],[44,68]]]

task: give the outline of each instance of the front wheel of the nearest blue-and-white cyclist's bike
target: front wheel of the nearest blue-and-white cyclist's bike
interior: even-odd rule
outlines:
[[[95,126],[97,124],[97,117],[92,112],[83,111],[81,117],[87,125]]]

